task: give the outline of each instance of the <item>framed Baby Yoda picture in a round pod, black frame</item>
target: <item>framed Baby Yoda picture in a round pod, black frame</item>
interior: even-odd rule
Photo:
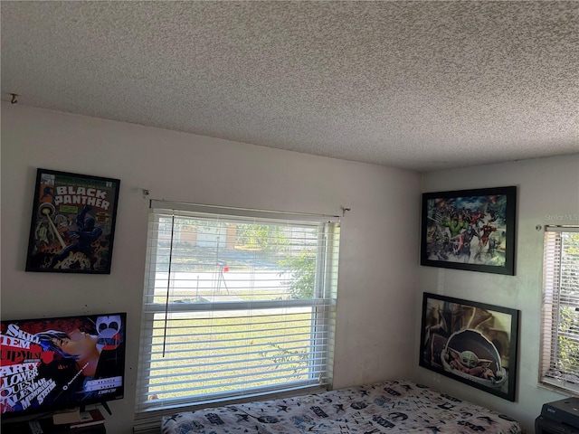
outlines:
[[[424,293],[420,365],[515,401],[519,311]]]

